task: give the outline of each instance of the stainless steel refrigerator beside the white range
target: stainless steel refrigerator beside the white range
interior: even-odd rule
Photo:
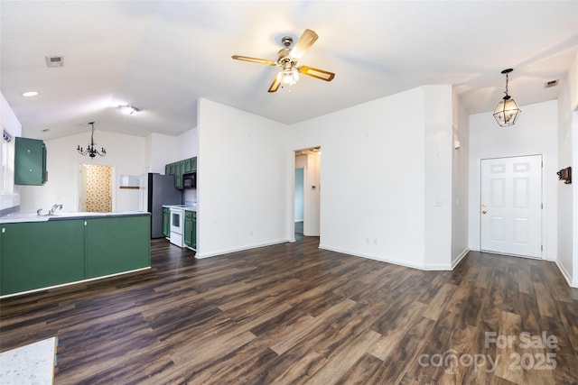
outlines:
[[[174,175],[149,172],[141,180],[141,210],[151,213],[151,238],[163,238],[163,205],[182,205],[182,190],[174,188]]]

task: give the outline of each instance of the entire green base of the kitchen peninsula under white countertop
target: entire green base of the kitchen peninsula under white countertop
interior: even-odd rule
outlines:
[[[151,266],[150,215],[0,225],[0,295],[23,293]]]

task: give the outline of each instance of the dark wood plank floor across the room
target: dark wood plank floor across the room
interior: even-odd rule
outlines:
[[[151,270],[2,300],[0,349],[58,336],[57,384],[578,381],[578,290],[553,262],[421,271],[318,244],[195,260],[154,240]]]

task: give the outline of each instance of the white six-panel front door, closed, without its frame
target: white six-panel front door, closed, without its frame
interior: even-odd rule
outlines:
[[[481,160],[480,250],[542,258],[542,155]]]

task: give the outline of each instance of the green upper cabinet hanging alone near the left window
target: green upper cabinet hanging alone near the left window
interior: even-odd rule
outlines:
[[[37,139],[16,137],[14,184],[42,186],[46,181],[46,146]]]

